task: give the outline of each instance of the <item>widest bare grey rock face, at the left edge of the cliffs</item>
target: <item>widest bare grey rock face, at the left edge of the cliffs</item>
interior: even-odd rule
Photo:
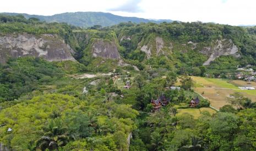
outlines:
[[[0,37],[0,63],[10,57],[35,56],[48,61],[75,61],[74,53],[64,40],[52,34],[36,37],[32,34],[18,34]]]

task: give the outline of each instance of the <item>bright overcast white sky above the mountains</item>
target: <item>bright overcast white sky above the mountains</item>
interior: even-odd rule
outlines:
[[[53,15],[103,11],[146,19],[256,25],[255,0],[1,0],[0,12]]]

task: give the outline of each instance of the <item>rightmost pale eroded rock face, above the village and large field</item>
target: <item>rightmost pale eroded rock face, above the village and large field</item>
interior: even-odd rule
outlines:
[[[231,39],[216,40],[212,47],[204,47],[201,53],[209,56],[209,59],[203,65],[210,65],[217,57],[232,55],[239,57],[238,48]]]

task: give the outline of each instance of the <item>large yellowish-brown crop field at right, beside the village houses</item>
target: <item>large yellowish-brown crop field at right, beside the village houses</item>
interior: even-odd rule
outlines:
[[[219,109],[227,103],[227,97],[234,92],[241,92],[245,97],[256,102],[256,90],[240,90],[238,86],[254,86],[255,82],[242,80],[224,80],[203,77],[192,77],[195,82],[194,91],[207,98],[211,106]],[[199,86],[198,86],[199,85]]]

